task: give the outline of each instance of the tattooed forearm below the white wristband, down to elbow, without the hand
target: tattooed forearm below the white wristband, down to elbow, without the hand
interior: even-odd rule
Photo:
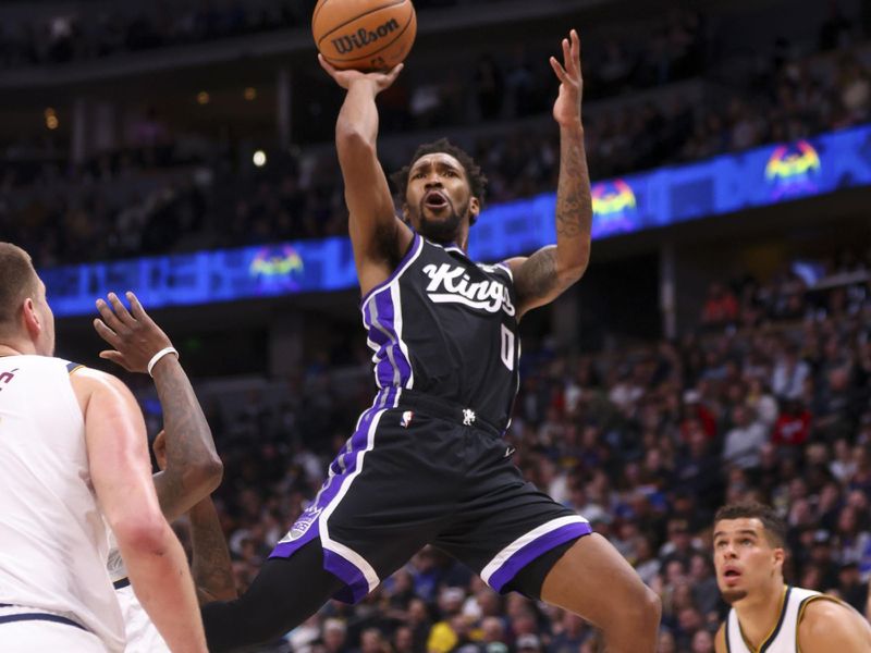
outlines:
[[[211,493],[213,485],[203,482],[198,470],[214,469],[220,459],[209,424],[181,365],[161,366],[155,371],[155,383],[168,434],[167,469],[155,476],[155,486],[163,515],[172,521]]]

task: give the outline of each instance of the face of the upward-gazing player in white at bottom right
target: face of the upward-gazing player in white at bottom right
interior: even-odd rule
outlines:
[[[756,517],[722,519],[714,525],[716,584],[726,603],[783,582],[784,551],[773,546]]]

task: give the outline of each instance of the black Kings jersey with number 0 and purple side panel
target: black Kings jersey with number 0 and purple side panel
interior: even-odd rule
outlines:
[[[518,386],[517,297],[504,263],[415,234],[395,272],[364,297],[376,383],[468,406],[504,430]]]

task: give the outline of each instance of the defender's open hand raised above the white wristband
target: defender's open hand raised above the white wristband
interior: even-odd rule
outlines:
[[[111,360],[128,372],[147,373],[151,357],[161,349],[171,347],[172,343],[145,312],[136,295],[127,292],[126,297],[130,310],[114,293],[109,293],[108,303],[97,299],[100,317],[94,320],[94,329],[112,347],[100,352],[100,358]]]

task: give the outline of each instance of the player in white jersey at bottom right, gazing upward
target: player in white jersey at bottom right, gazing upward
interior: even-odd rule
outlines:
[[[714,566],[732,606],[714,640],[717,653],[860,653],[871,626],[851,606],[787,586],[786,525],[769,506],[734,504],[714,517]]]

